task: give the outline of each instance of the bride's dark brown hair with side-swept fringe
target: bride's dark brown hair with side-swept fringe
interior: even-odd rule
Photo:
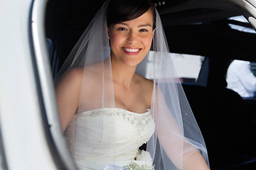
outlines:
[[[153,14],[153,29],[156,28],[156,8],[150,0],[111,0],[107,8],[107,26],[131,21],[142,16],[146,11]]]

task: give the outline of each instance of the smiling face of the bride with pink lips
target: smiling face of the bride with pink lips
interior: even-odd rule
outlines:
[[[112,60],[136,66],[149,52],[154,35],[151,10],[139,18],[108,28]]]

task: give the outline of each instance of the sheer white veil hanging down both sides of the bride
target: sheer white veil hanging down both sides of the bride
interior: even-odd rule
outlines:
[[[101,142],[105,128],[104,120],[89,122],[97,128],[95,135],[87,137],[80,122],[82,114],[99,108],[115,108],[110,43],[107,34],[107,6],[103,4],[95,18],[82,34],[67,60],[58,72],[57,80],[71,69],[82,69],[80,104],[75,114],[75,133],[71,152],[75,161],[90,157],[91,152]],[[137,66],[137,73],[154,81],[151,99],[151,115],[156,124],[154,135],[147,142],[146,150],[154,160],[155,169],[182,169],[182,165],[194,152],[200,151],[208,163],[206,145],[198,124],[184,94],[181,83],[171,62],[169,47],[164,35],[159,13],[156,11],[156,30],[150,55]],[[151,64],[151,69],[147,68]],[[114,120],[113,120],[114,123]],[[100,130],[99,130],[100,129]],[[110,157],[115,160],[115,135],[112,128],[112,149]],[[74,135],[75,136],[75,135]],[[93,140],[93,142],[80,142]],[[81,144],[82,143],[82,144]],[[88,147],[90,146],[90,147]]]

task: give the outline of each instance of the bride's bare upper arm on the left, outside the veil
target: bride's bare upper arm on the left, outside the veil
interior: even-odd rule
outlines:
[[[70,69],[56,86],[58,111],[63,131],[78,108],[81,81],[82,69]]]

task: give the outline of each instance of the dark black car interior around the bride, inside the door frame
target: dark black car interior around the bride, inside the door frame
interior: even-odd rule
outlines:
[[[103,2],[48,1],[46,38],[53,77]],[[256,34],[229,24],[252,26],[228,19],[242,15],[231,1],[153,2],[170,52],[206,57],[196,84],[183,83],[183,89],[206,141],[210,169],[256,169],[256,98],[242,98],[226,88],[225,80],[232,60],[256,62]]]

